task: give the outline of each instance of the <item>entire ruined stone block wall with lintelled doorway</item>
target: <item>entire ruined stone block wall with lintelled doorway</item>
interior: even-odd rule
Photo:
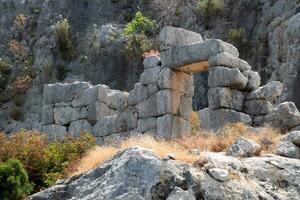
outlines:
[[[229,122],[270,123],[292,129],[300,113],[292,102],[274,106],[280,82],[260,86],[260,76],[221,40],[165,27],[161,55],[146,57],[139,83],[128,92],[87,82],[44,86],[41,130],[57,139],[91,132],[98,143],[136,133],[172,139],[191,131],[193,73],[209,71],[209,107],[198,112],[201,128],[217,130]]]

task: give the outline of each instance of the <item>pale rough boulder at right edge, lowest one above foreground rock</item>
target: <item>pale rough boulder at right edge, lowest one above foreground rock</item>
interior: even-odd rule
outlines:
[[[288,158],[300,159],[300,148],[290,141],[282,141],[276,147],[276,154]]]

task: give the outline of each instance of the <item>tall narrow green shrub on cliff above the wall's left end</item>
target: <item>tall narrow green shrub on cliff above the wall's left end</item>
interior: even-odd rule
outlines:
[[[55,23],[57,44],[64,60],[71,60],[75,57],[75,51],[70,37],[70,27],[67,19],[62,19]]]

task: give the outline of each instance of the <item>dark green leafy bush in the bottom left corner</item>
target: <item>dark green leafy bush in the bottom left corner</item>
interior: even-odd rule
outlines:
[[[23,199],[32,191],[28,175],[21,162],[9,159],[0,164],[0,199]]]

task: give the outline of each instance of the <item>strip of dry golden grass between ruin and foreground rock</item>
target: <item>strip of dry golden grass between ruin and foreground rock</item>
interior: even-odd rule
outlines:
[[[270,153],[273,151],[274,144],[280,140],[280,132],[271,127],[263,127],[259,132],[253,132],[243,123],[233,123],[224,126],[217,133],[197,132],[172,141],[157,141],[148,135],[130,138],[118,145],[96,146],[79,162],[77,169],[71,175],[87,172],[111,158],[118,151],[133,146],[151,149],[161,158],[173,153],[176,155],[176,160],[195,163],[204,156],[190,154],[189,150],[226,151],[238,137],[253,139],[262,145],[262,153]]]

